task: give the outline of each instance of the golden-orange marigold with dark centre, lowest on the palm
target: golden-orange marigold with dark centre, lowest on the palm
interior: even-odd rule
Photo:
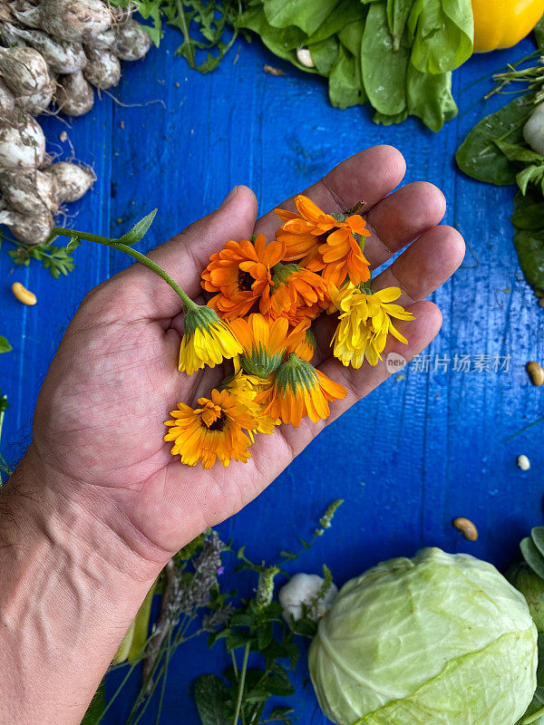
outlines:
[[[199,406],[193,410],[180,402],[178,410],[170,412],[173,420],[165,422],[170,430],[164,440],[174,441],[172,455],[179,455],[188,466],[202,461],[203,469],[210,469],[217,459],[223,466],[230,460],[250,459],[251,440],[242,429],[252,430],[255,418],[246,406],[228,391],[215,389],[210,398],[199,398]]]

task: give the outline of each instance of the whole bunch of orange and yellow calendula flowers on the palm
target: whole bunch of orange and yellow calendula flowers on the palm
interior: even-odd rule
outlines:
[[[276,209],[276,239],[229,241],[212,255],[201,280],[208,306],[186,304],[180,372],[233,361],[209,398],[195,409],[180,402],[165,423],[164,440],[189,466],[247,461],[257,433],[329,416],[329,402],[346,391],[312,364],[311,325],[320,314],[339,316],[331,344],[344,365],[376,365],[389,334],[407,342],[392,322],[413,319],[392,304],[401,290],[370,288],[363,250],[371,233],[356,213],[363,205],[335,215],[304,196],[295,204],[298,213]]]

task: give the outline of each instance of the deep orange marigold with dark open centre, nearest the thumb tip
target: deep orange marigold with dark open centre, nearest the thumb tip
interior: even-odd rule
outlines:
[[[272,284],[270,270],[284,256],[281,242],[267,244],[259,234],[255,242],[229,241],[220,252],[209,257],[202,272],[201,285],[214,296],[209,306],[226,320],[247,314]]]

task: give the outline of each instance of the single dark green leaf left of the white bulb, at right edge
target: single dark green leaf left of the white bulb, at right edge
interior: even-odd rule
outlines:
[[[517,169],[500,150],[498,142],[522,143],[523,126],[529,114],[530,102],[525,96],[482,119],[457,150],[455,159],[461,171],[488,184],[515,184]]]

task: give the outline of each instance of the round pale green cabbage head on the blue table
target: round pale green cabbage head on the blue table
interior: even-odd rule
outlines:
[[[309,652],[319,704],[340,725],[514,725],[537,659],[523,595],[491,564],[438,548],[348,582]]]

